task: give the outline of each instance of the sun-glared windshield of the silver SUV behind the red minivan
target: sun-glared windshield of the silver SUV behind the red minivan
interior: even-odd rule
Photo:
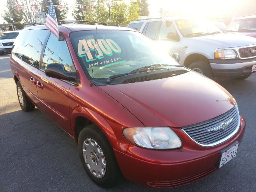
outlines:
[[[176,20],[175,22],[180,30],[180,33],[184,37],[201,36],[221,32],[218,27],[208,20],[180,19]]]

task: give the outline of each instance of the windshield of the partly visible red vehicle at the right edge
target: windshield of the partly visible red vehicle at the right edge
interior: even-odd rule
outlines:
[[[242,30],[256,31],[256,18],[234,20],[225,29],[225,31]]]

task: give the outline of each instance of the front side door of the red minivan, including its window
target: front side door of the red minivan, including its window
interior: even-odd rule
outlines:
[[[64,37],[60,34],[60,39]],[[50,35],[43,55],[42,66],[37,72],[36,86],[41,110],[68,134],[70,130],[68,92],[72,82],[48,77],[45,67],[50,63],[63,65],[66,71],[76,71],[65,39],[58,41]]]

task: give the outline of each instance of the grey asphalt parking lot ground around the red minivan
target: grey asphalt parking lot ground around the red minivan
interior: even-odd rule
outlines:
[[[246,120],[236,158],[206,178],[180,188],[160,190],[124,180],[103,189],[86,175],[70,136],[37,108],[32,112],[20,109],[9,57],[0,56],[0,192],[255,191],[256,74],[246,80],[216,80],[234,96]]]

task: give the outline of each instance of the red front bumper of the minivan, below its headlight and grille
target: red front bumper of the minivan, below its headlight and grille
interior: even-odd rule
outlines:
[[[130,144],[126,154],[118,150],[114,153],[126,179],[156,188],[172,188],[194,182],[217,170],[220,151],[236,141],[240,143],[244,130],[245,121],[240,117],[238,132],[213,147],[199,146],[182,136],[183,147],[180,149],[149,150]],[[182,134],[182,130],[175,132],[179,136]]]

